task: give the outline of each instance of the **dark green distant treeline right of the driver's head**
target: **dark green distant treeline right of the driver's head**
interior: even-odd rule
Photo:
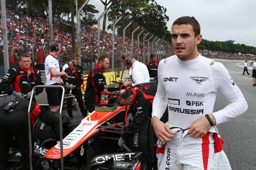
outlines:
[[[256,55],[256,47],[248,46],[245,44],[233,44],[223,41],[208,41],[202,39],[198,48],[203,50],[221,51],[226,53],[242,53],[242,54],[254,54]]]

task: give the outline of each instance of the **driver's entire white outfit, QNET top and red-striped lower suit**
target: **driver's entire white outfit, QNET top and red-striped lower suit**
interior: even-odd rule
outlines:
[[[228,105],[213,112],[217,93],[224,96]],[[160,61],[152,117],[160,119],[166,106],[167,123],[182,129],[211,113],[219,125],[244,113],[248,107],[224,65],[200,55],[188,61],[181,61],[177,56]],[[230,169],[222,140],[214,127],[204,138],[191,137],[188,130],[172,131],[176,132],[175,137],[158,149],[158,169]]]

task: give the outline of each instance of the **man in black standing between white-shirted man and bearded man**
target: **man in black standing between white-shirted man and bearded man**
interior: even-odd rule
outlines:
[[[83,84],[83,74],[80,67],[77,67],[74,63],[74,61],[70,60],[68,61],[69,67],[65,69],[65,72],[68,75],[68,80],[63,80],[65,84],[65,88],[72,89],[72,94],[75,95],[75,98],[78,102],[78,106],[80,108],[80,111],[82,113],[82,116],[85,117],[86,114],[84,112],[84,103],[82,100],[82,91],[81,91],[81,85]],[[72,99],[67,99],[67,108],[68,108],[68,114],[70,117],[73,118],[72,114]]]

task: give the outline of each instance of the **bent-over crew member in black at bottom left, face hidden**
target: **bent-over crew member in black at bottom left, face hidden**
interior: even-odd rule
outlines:
[[[29,169],[29,138],[28,138],[28,106],[29,101],[24,99],[16,99],[12,101],[15,106],[7,109],[4,104],[0,109],[0,170],[7,169],[9,149],[15,138],[20,151],[22,153],[21,163],[23,169]],[[50,126],[53,130],[53,138],[59,140],[59,116],[49,110],[43,110],[40,105],[32,102],[30,112],[32,130],[37,118]],[[33,135],[32,135],[33,137]],[[33,141],[32,141],[33,143]],[[34,144],[32,144],[33,151]],[[33,158],[33,157],[32,157]]]

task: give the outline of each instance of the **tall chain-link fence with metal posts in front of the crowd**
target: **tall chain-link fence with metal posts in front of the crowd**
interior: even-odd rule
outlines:
[[[1,1],[4,2],[3,0]],[[56,41],[61,46],[59,61],[65,63],[70,58],[76,59],[86,72],[95,65],[98,55],[109,56],[110,69],[119,70],[122,67],[121,56],[123,52],[133,51],[133,56],[145,64],[149,62],[150,54],[160,57],[160,54],[164,53],[162,51],[167,53],[167,48],[159,48],[159,37],[124,17],[116,16],[112,21],[107,19],[104,24],[105,30],[102,31],[102,22],[100,26],[95,25],[95,23],[97,23],[97,19],[100,18],[105,8],[96,1],[91,1],[91,6],[88,4],[81,11],[78,10],[80,22],[77,25],[75,3],[76,1],[73,1],[73,4],[58,4],[57,1],[52,1],[52,8],[49,8],[48,2],[5,1],[7,43],[4,43],[2,34],[4,30],[3,19],[1,19],[0,77],[3,77],[7,71],[4,69],[3,47],[5,44],[8,44],[8,57],[6,58],[9,59],[9,67],[18,66],[20,55],[25,52],[31,54],[35,63],[44,63],[46,56],[49,54],[48,46],[49,39],[51,39],[51,28],[53,41]],[[92,19],[89,10],[92,5],[99,9],[98,13],[94,13],[94,19]],[[78,9],[81,6],[82,4],[77,4]],[[49,23],[51,23],[48,17],[51,13],[50,9],[52,9],[53,14],[52,27],[49,26]],[[106,16],[108,17],[108,13]],[[117,21],[118,18],[119,21]],[[116,21],[114,28],[113,23]],[[80,28],[80,39],[77,39],[77,26]],[[98,28],[100,29],[100,41],[98,41]],[[116,30],[113,32],[113,29]],[[79,43],[81,46],[80,51]]]

